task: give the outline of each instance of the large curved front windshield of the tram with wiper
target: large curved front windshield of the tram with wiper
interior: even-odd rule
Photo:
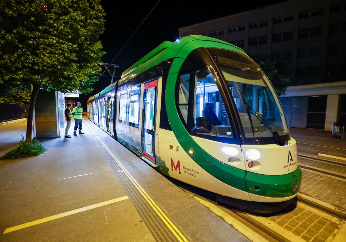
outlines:
[[[245,137],[289,134],[275,90],[261,68],[250,58],[236,52],[225,49],[208,50],[233,96]]]

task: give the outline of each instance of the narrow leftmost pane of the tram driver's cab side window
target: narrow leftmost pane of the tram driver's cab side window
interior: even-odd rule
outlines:
[[[188,106],[189,106],[189,85],[190,74],[179,76],[179,101],[178,106],[185,123],[188,123]]]

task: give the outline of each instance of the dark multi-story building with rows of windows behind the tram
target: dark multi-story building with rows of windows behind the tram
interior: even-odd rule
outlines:
[[[227,41],[265,64],[282,62],[290,127],[346,125],[346,1],[291,0],[179,28]]]

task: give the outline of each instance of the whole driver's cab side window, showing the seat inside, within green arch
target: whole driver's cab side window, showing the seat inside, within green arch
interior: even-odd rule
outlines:
[[[225,104],[212,67],[203,67],[177,80],[177,106],[191,135],[227,142],[233,138]]]

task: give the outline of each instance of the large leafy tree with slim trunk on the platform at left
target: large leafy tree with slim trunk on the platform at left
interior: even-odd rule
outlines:
[[[91,92],[104,52],[100,0],[0,1],[0,90],[32,85],[26,140],[40,89]]]

